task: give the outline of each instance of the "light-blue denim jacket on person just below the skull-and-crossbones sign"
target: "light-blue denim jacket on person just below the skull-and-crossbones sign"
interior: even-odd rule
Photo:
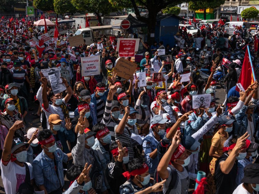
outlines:
[[[185,121],[184,136],[193,135],[203,126],[203,117],[197,117],[195,113],[191,113],[189,119]]]

